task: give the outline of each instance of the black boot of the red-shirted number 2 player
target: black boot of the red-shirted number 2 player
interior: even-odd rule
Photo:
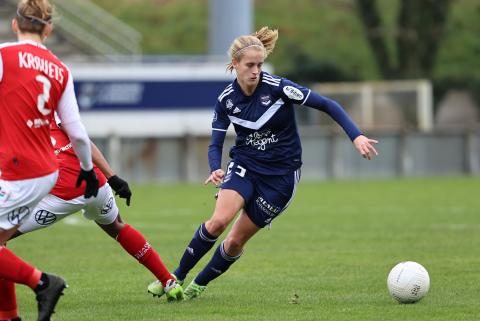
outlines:
[[[37,293],[38,303],[38,320],[50,321],[50,316],[55,312],[55,306],[58,299],[63,294],[63,290],[67,287],[65,280],[53,274],[44,273],[48,279],[48,285]]]

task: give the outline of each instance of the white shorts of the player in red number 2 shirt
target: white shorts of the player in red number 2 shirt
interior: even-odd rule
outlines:
[[[0,228],[10,230],[26,220],[32,209],[53,188],[57,178],[58,171],[17,181],[0,179]]]

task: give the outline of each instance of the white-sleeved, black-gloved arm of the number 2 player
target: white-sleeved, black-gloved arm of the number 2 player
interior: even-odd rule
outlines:
[[[57,114],[62,123],[62,129],[70,139],[75,154],[80,160],[81,170],[78,176],[77,186],[80,186],[82,181],[86,181],[85,198],[97,196],[98,179],[93,170],[90,138],[80,121],[80,113],[78,111],[71,74],[68,77],[67,85],[60,98]]]

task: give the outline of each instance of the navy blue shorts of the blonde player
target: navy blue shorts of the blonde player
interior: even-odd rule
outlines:
[[[230,161],[221,188],[238,192],[248,217],[262,228],[290,205],[299,180],[299,169],[286,175],[261,175]]]

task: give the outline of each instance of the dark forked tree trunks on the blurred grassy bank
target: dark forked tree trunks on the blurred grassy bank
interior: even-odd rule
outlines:
[[[376,0],[355,0],[377,67],[386,79],[430,78],[445,31],[451,0],[401,0],[394,34],[394,53]]]

